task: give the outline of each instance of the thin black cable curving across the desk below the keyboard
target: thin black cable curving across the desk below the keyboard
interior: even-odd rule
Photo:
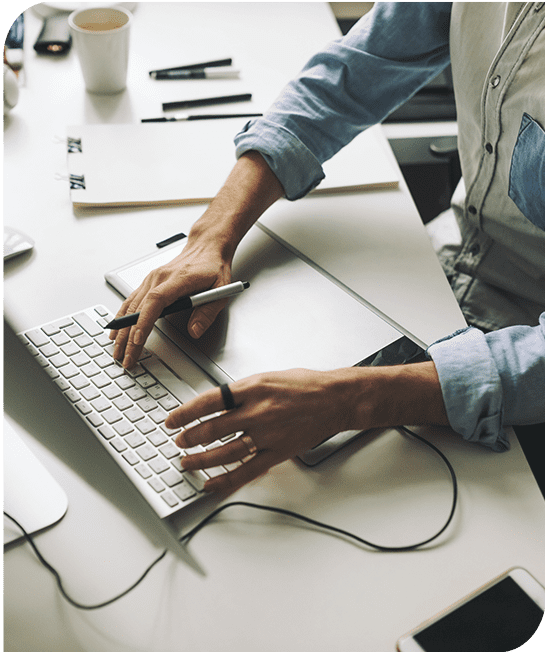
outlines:
[[[188,543],[207,523],[209,523],[213,518],[215,518],[218,514],[223,512],[229,507],[251,507],[253,509],[260,509],[262,511],[268,511],[268,512],[274,512],[276,514],[281,514],[283,516],[289,516],[290,518],[297,519],[299,521],[303,521],[304,523],[308,523],[309,525],[313,525],[317,528],[321,528],[322,530],[326,530],[329,532],[334,532],[336,534],[340,534],[348,539],[352,539],[358,543],[361,543],[363,545],[369,546],[371,548],[375,548],[375,550],[380,550],[382,552],[407,552],[409,550],[416,550],[417,548],[421,548],[422,546],[425,546],[426,544],[430,543],[431,541],[434,541],[439,537],[450,525],[450,522],[452,521],[452,518],[454,516],[454,512],[456,510],[456,503],[458,499],[458,482],[456,480],[456,474],[454,472],[454,469],[452,468],[451,463],[448,461],[446,456],[432,443],[430,443],[427,439],[424,439],[424,437],[417,435],[416,433],[412,432],[408,428],[405,428],[404,426],[399,426],[399,429],[402,430],[403,432],[407,433],[411,437],[414,437],[424,443],[426,446],[429,446],[432,450],[434,450],[439,457],[443,460],[443,462],[446,464],[451,478],[452,478],[452,490],[453,490],[453,496],[452,496],[452,507],[450,510],[450,514],[448,516],[448,519],[443,525],[443,527],[432,537],[429,539],[426,539],[425,541],[421,541],[419,543],[414,543],[408,546],[381,546],[376,543],[371,543],[370,541],[366,541],[362,537],[359,537],[356,534],[352,534],[351,532],[347,532],[346,530],[342,530],[341,528],[335,527],[333,525],[327,525],[325,523],[321,523],[320,521],[316,521],[312,518],[309,518],[308,516],[303,516],[302,514],[297,514],[296,512],[292,512],[288,509],[283,509],[282,507],[271,507],[269,505],[258,505],[256,503],[248,503],[245,501],[235,501],[232,503],[226,503],[225,505],[221,505],[217,509],[215,509],[211,514],[209,514],[207,517],[205,517],[200,523],[198,523],[194,528],[192,528],[189,532],[184,534],[182,537],[180,537],[180,542],[182,543]],[[55,577],[55,580],[57,582],[57,586],[59,587],[59,591],[61,592],[61,595],[69,602],[72,606],[77,607],[78,609],[86,609],[86,610],[92,610],[92,609],[100,609],[102,607],[106,607],[116,600],[119,600],[120,598],[124,597],[128,593],[130,593],[134,588],[136,588],[140,582],[144,580],[146,575],[151,571],[151,569],[158,564],[163,557],[165,557],[167,551],[163,550],[163,552],[155,559],[147,568],[146,570],[142,573],[142,575],[132,584],[128,589],[123,591],[122,593],[116,595],[115,597],[111,598],[110,600],[106,600],[105,602],[101,602],[99,604],[94,604],[94,605],[84,605],[81,604],[80,602],[77,602],[73,598],[71,598],[68,593],[66,593],[64,586],[62,584],[62,579],[57,570],[49,564],[44,557],[42,556],[41,552],[38,550],[36,547],[36,544],[32,540],[32,537],[27,533],[27,531],[24,529],[24,527],[16,521],[13,516],[10,516],[7,512],[3,512],[4,516],[7,516],[15,525],[21,530],[23,533],[25,539],[28,541],[28,543],[32,546],[32,549],[36,553],[36,556],[40,560],[40,562],[47,568],[47,570]]]

